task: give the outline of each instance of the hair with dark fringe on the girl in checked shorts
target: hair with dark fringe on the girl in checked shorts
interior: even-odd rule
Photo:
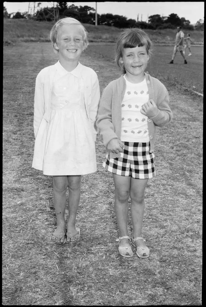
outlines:
[[[115,45],[115,61],[117,65],[120,67],[123,74],[126,73],[124,68],[124,63],[120,63],[120,59],[123,57],[123,49],[124,48],[135,48],[135,47],[145,46],[147,50],[147,54],[151,55],[152,50],[152,42],[142,29],[139,28],[131,28],[126,29],[124,32],[120,33],[120,36],[117,38]]]

